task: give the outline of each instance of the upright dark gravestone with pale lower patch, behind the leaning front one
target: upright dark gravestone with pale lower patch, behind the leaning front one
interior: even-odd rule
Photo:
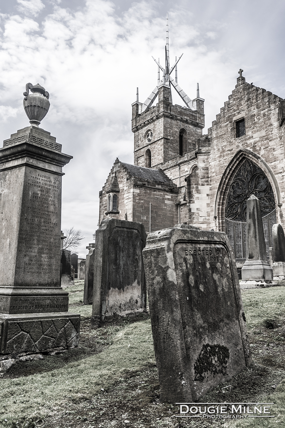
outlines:
[[[146,309],[142,223],[102,220],[96,231],[93,320],[135,315]]]

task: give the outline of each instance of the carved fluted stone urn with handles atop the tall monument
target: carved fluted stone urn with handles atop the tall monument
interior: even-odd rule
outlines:
[[[29,94],[29,90],[32,94]],[[23,95],[25,97],[24,109],[29,118],[29,123],[38,127],[50,108],[50,101],[48,100],[50,95],[39,83],[36,85],[27,83],[26,92]]]

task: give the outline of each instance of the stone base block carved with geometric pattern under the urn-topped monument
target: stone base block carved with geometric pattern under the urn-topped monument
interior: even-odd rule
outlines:
[[[80,315],[72,312],[0,314],[0,356],[73,348],[79,343]]]

